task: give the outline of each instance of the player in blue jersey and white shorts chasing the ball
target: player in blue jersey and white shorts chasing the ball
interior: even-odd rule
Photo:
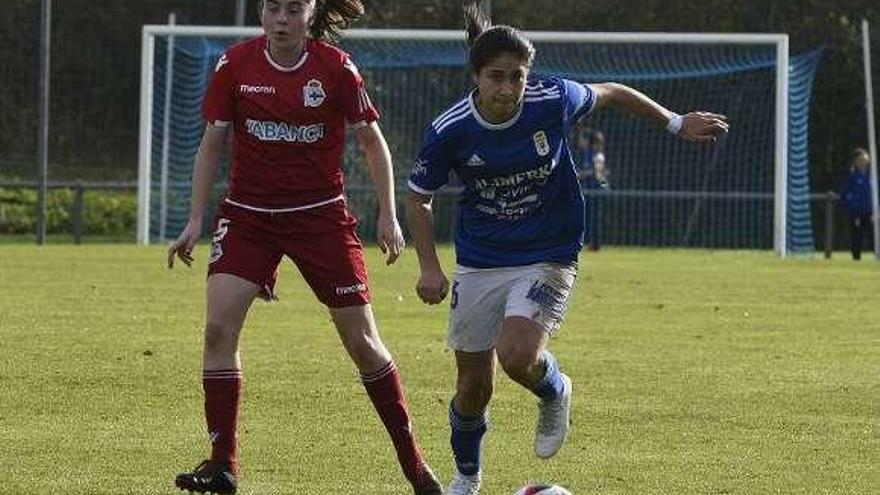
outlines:
[[[456,472],[448,494],[478,493],[496,356],[539,398],[535,453],[565,441],[571,380],[547,350],[566,311],[585,229],[567,134],[583,115],[612,105],[689,141],[727,131],[722,115],[675,114],[629,87],[550,77],[530,81],[532,44],[509,26],[466,11],[476,88],[427,130],[410,177],[407,219],[418,253],[419,297],[437,304],[449,283],[434,249],[431,199],[454,170],[464,184],[455,234],[449,345],[457,390],[449,407]]]

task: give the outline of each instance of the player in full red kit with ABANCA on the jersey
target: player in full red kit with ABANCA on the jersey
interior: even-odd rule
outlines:
[[[207,282],[203,386],[212,453],[193,472],[177,476],[179,488],[236,491],[238,339],[253,300],[273,297],[286,255],[328,307],[415,493],[441,493],[416,444],[400,376],[373,320],[363,247],[343,195],[347,124],[379,198],[379,246],[387,263],[394,263],[404,240],[391,156],[357,68],[328,43],[362,13],[360,0],[263,0],[265,34],[231,47],[215,68],[204,100],[207,125],[195,159],[189,222],[168,250],[169,267],[175,256],[192,263],[231,127],[229,189],[215,219]]]

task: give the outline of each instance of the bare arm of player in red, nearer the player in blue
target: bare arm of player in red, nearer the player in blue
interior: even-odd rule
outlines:
[[[403,231],[397,222],[397,207],[394,202],[394,171],[391,168],[391,152],[382,130],[375,122],[355,130],[355,138],[367,159],[367,171],[376,188],[379,198],[379,219],[376,224],[376,238],[379,249],[388,255],[387,264],[394,263],[403,253],[406,245]]]

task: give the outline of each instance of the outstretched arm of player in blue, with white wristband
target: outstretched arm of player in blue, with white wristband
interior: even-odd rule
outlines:
[[[617,83],[590,84],[596,92],[596,107],[614,106],[636,116],[653,120],[684,140],[714,142],[727,132],[727,117],[710,112],[678,115],[639,91]]]

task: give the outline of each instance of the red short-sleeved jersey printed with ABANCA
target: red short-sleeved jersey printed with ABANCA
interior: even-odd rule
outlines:
[[[272,60],[265,36],[220,58],[202,113],[233,126],[227,199],[268,209],[339,197],[346,122],[379,118],[347,53],[307,39],[299,61],[284,67]]]

